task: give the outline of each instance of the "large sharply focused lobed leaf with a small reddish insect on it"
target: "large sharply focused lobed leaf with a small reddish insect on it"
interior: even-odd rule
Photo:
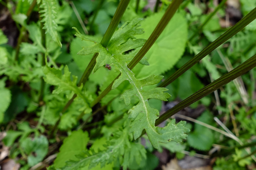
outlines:
[[[132,57],[136,55],[138,50],[134,50],[128,54],[126,54],[126,52],[141,47],[146,41],[134,37],[134,35],[143,33],[143,30],[138,28],[140,26],[138,25],[140,20],[141,19],[136,18],[122,25],[122,27],[114,33],[106,48],[94,41],[94,45],[83,47],[84,49],[79,51],[78,54],[88,55],[91,53],[99,53],[94,72],[105,64],[114,64],[115,67],[120,70],[121,76],[115,80],[112,89],[118,87],[124,80],[128,80],[132,85],[132,89],[122,94],[121,98],[124,99],[126,105],[130,104],[131,97],[134,95],[140,100],[136,106],[128,111],[129,118],[133,121],[130,132],[134,134],[134,139],[137,139],[142,134],[143,129],[145,129],[150,142],[158,149],[159,142],[168,143],[169,141],[182,141],[182,139],[186,138],[187,135],[185,133],[189,132],[189,129],[184,127],[184,121],[175,124],[175,120],[172,120],[164,128],[156,127],[155,121],[159,117],[159,112],[157,109],[150,107],[148,99],[154,98],[167,101],[167,98],[170,98],[170,94],[165,92],[168,90],[166,88],[153,88],[148,91],[142,88],[144,86],[157,84],[162,79],[162,76],[152,75],[143,80],[138,80],[134,76],[134,73],[127,67],[127,64],[131,61]],[[76,33],[76,36],[86,41],[92,41],[88,40],[79,32]]]

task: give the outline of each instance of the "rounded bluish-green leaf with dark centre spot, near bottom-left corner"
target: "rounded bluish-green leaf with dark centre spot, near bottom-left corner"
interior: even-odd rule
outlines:
[[[45,136],[26,138],[20,147],[28,155],[28,165],[34,166],[44,159],[48,152],[48,140]]]

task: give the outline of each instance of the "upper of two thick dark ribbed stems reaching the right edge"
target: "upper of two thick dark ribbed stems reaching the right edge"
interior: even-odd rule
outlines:
[[[178,69],[172,76],[168,77],[164,82],[162,82],[158,87],[166,87],[168,84],[176,80],[180,75],[186,72],[189,68],[198,63],[206,55],[211,53],[214,49],[219,47],[222,43],[230,39],[233,35],[241,31],[246,25],[252,22],[256,18],[256,8],[254,8],[249,14],[247,14],[242,20],[240,20],[236,25],[228,29],[224,34],[218,37],[215,41],[210,43],[206,48],[204,48],[198,55],[193,57],[190,61],[184,64],[180,69]]]

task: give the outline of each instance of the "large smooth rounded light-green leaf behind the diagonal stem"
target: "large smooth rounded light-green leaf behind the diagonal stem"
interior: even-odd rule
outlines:
[[[141,27],[145,33],[138,35],[138,38],[148,39],[154,30],[154,26],[160,21],[163,13],[154,14],[141,21]],[[146,53],[149,66],[137,64],[133,72],[138,78],[145,78],[151,74],[163,74],[170,70],[181,58],[185,51],[186,41],[188,38],[188,25],[183,15],[176,13],[172,20],[166,25],[166,28],[158,37],[154,45]]]

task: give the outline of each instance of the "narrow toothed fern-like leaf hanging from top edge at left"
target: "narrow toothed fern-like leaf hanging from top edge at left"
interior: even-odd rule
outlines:
[[[42,0],[42,4],[40,5],[40,13],[42,13],[42,22],[44,22],[43,29],[46,29],[46,33],[49,33],[56,43],[60,47],[62,47],[62,43],[58,37],[57,33],[57,23],[56,23],[56,0]]]

